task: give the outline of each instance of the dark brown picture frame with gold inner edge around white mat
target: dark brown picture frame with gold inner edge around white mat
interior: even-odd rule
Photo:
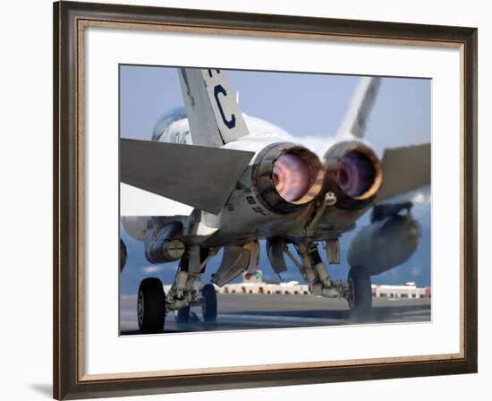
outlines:
[[[461,55],[460,352],[261,365],[246,369],[87,374],[84,268],[84,56],[88,27],[293,38],[395,47],[448,47]],[[477,372],[477,36],[474,28],[225,13],[135,5],[54,4],[54,397],[115,397]],[[115,334],[116,336],[116,334]]]

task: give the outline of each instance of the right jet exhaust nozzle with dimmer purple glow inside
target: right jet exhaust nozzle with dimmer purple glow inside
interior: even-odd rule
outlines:
[[[357,209],[371,200],[383,183],[379,158],[360,141],[335,144],[325,154],[326,191],[335,192],[338,205]]]

